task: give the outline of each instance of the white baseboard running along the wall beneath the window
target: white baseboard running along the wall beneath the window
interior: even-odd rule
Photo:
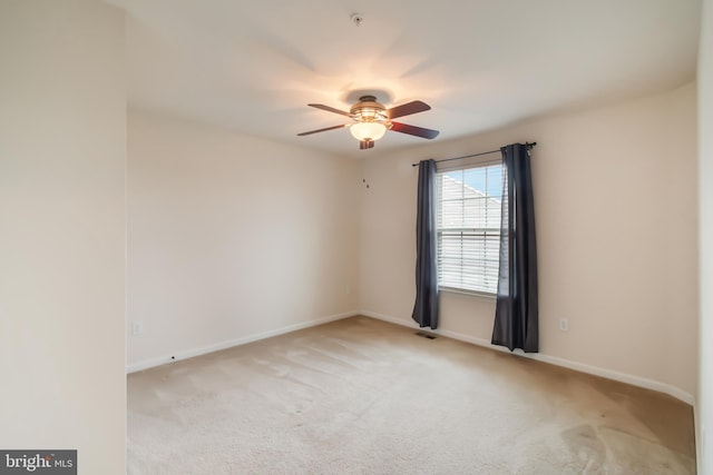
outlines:
[[[368,310],[361,310],[359,314],[367,317],[377,318],[379,320],[389,321],[395,325],[406,326],[409,328],[419,328],[418,324],[412,319],[404,320],[402,318],[394,318],[388,315],[377,314]],[[436,329],[436,330],[429,329],[429,331],[432,331],[438,335],[443,335],[449,338],[458,339],[460,342],[471,343],[478,346],[485,346],[487,348],[495,349],[498,352],[510,353],[509,349],[502,346],[492,345],[490,344],[490,340],[487,340],[484,338],[477,338],[469,335],[463,335],[457,331],[445,330],[445,329]],[[684,403],[690,404],[692,406],[695,405],[695,398],[693,397],[692,394],[686,393],[685,390],[666,383],[661,383],[654,379],[643,378],[643,377],[629,375],[626,373],[619,373],[613,369],[606,369],[597,366],[586,365],[584,363],[572,362],[569,359],[559,358],[557,356],[549,356],[544,353],[524,353],[519,349],[516,349],[515,352],[512,352],[512,354],[525,357],[525,358],[536,359],[538,362],[549,363],[550,365],[557,365],[565,368],[574,369],[580,373],[588,373],[590,375],[600,376],[607,379],[614,379],[621,383],[631,384],[633,386],[656,390],[658,393],[664,393],[670,396],[673,396],[676,399],[683,400]]]

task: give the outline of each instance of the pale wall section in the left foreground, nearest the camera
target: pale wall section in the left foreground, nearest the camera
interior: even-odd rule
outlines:
[[[124,13],[2,1],[0,65],[0,447],[124,474]]]

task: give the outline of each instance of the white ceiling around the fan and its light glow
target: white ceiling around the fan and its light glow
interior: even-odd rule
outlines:
[[[695,77],[700,0],[107,0],[127,11],[129,106],[340,155],[354,91],[432,110],[437,141],[673,89]],[[356,27],[352,13],[363,16]]]

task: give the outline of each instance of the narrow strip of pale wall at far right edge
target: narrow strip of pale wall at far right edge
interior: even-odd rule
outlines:
[[[699,473],[713,474],[713,1],[703,2],[699,50],[699,187],[701,253]]]

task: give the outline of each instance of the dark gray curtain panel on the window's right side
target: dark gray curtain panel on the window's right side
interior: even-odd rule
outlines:
[[[539,349],[537,246],[529,147],[512,144],[502,152],[500,271],[492,344],[510,352]]]

